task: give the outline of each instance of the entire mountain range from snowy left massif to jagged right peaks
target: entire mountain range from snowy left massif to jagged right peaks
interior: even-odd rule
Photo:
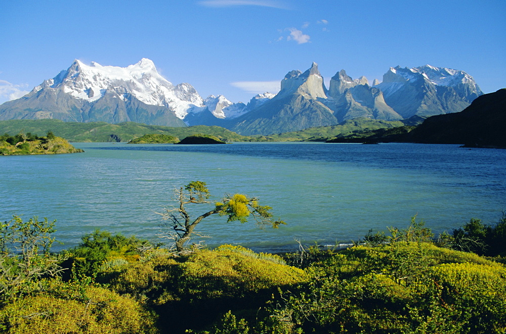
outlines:
[[[482,94],[466,72],[430,65],[390,68],[372,86],[341,70],[327,89],[313,63],[305,72],[288,72],[277,94],[232,103],[223,95],[203,99],[188,83],[173,85],[149,59],[126,68],[75,60],[25,96],[0,105],[0,120],[219,125],[243,135],[268,135],[364,117],[397,121],[455,113]]]

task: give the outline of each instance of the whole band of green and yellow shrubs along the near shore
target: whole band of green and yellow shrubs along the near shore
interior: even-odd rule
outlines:
[[[55,222],[0,224],[6,333],[502,333],[506,215],[434,238],[423,221],[334,252],[173,253],[95,231],[50,252]],[[468,240],[494,258],[462,252]]]

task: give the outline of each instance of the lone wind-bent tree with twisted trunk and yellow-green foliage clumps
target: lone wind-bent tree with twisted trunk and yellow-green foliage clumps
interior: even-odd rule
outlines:
[[[162,216],[163,226],[169,230],[164,237],[174,240],[179,253],[184,251],[185,245],[190,241],[192,235],[200,236],[195,228],[202,219],[213,214],[227,216],[228,222],[238,220],[244,223],[248,218],[252,218],[258,225],[270,225],[274,229],[277,229],[281,224],[286,224],[282,220],[272,218],[272,213],[269,212],[272,207],[259,205],[257,197],[241,194],[226,195],[221,202],[215,203],[214,209],[192,218],[187,209],[188,205],[212,203],[209,200],[210,194],[206,183],[192,181],[186,186],[176,189],[175,193],[175,201],[178,202],[178,205],[166,207],[163,212],[156,213]]]

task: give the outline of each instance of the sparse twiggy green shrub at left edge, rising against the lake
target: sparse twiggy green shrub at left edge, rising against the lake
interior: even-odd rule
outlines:
[[[61,271],[62,256],[50,254],[55,222],[17,215],[0,222],[0,304],[43,289],[39,280]]]

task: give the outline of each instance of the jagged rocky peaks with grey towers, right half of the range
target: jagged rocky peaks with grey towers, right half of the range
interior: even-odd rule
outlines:
[[[463,71],[430,65],[391,68],[373,87],[362,76],[336,73],[327,90],[318,66],[293,70],[281,80],[281,90],[263,105],[234,120],[241,134],[279,133],[370,118],[396,121],[460,112],[482,95],[473,78]]]

